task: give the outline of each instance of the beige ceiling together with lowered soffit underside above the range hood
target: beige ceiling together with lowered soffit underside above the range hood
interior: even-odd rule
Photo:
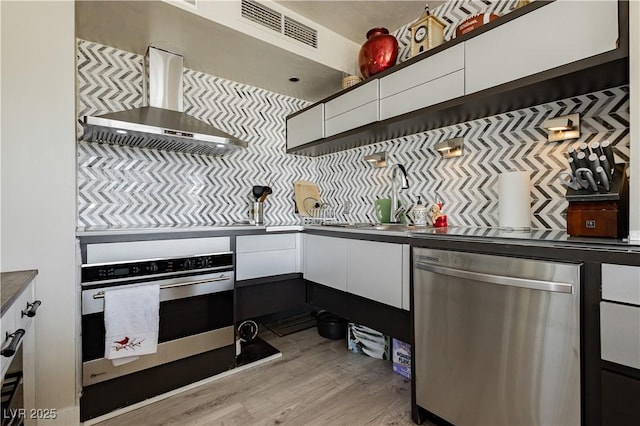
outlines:
[[[371,28],[383,26],[393,31],[413,21],[425,5],[424,1],[370,0],[278,3],[357,44],[365,41]],[[429,5],[433,9],[440,3]],[[140,55],[151,43],[167,42],[183,49],[187,68],[312,102],[340,91],[345,76],[340,70],[159,1],[76,1],[76,35]],[[290,82],[291,76],[300,81]]]

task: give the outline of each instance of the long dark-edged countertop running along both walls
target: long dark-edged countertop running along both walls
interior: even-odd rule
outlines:
[[[374,226],[371,224],[303,224],[267,223],[261,226],[249,224],[216,224],[207,226],[155,226],[155,227],[87,227],[78,228],[81,243],[102,243],[116,241],[154,240],[169,238],[196,238],[225,235],[255,235],[269,232],[300,232],[334,237],[371,239],[415,246],[437,245],[441,248],[484,250],[503,252],[514,248],[518,253],[540,252],[553,249],[549,254],[564,257],[567,251],[609,253],[604,261],[613,262],[616,256],[624,254],[625,262],[630,256],[640,254],[640,241],[626,239],[572,237],[563,230],[532,229],[530,231],[510,231],[488,227],[433,228],[431,226]],[[470,245],[470,243],[473,243]],[[559,251],[564,250],[564,253]],[[515,254],[515,253],[514,253]],[[577,256],[576,253],[574,253]],[[574,256],[574,257],[575,257]],[[584,258],[583,254],[580,254]],[[640,258],[639,258],[640,259]],[[632,263],[636,263],[633,259]],[[638,260],[640,263],[640,260]]]

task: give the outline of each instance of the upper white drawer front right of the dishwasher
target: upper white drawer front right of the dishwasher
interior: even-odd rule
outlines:
[[[602,298],[640,306],[640,267],[603,264]]]

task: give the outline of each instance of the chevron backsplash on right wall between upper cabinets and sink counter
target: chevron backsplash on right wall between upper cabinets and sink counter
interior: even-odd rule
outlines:
[[[391,194],[390,167],[374,169],[365,155],[387,151],[387,164],[403,164],[409,189],[404,205],[418,196],[445,202],[449,225],[498,226],[498,175],[531,172],[532,227],[566,229],[565,188],[557,176],[568,169],[566,149],[579,142],[609,140],[618,162],[629,161],[628,86],[460,123],[408,137],[319,157],[318,185],[335,205],[351,205],[350,220],[370,221],[376,198]],[[548,143],[541,128],[548,117],[580,113],[578,141]],[[444,159],[433,145],[464,137],[464,155]]]

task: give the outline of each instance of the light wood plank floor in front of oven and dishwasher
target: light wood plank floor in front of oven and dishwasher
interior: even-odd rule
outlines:
[[[411,383],[390,361],[350,353],[315,328],[260,337],[282,358],[232,374],[100,426],[413,425]]]

